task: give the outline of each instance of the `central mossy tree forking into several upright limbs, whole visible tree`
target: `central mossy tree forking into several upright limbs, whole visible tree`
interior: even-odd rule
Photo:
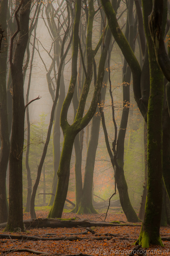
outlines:
[[[89,92],[89,87],[91,84],[92,80],[92,74],[93,74],[93,58],[96,54],[96,52],[99,49],[98,44],[95,48],[95,50],[92,50],[92,29],[93,29],[93,18],[95,15],[95,10],[93,6],[93,0],[88,1],[88,9],[89,9],[89,14],[88,14],[88,25],[87,25],[87,37],[86,37],[86,52],[87,52],[87,71],[86,71],[86,78],[84,82],[84,86],[82,88],[82,93],[80,96],[79,100],[79,105],[78,105],[78,110],[76,113],[76,117],[74,120],[74,123],[72,125],[68,124],[67,121],[67,113],[68,113],[68,108],[71,104],[71,100],[74,94],[74,89],[75,89],[75,83],[76,83],[76,77],[77,77],[77,57],[78,57],[78,33],[79,33],[79,20],[80,20],[80,14],[81,14],[81,2],[76,1],[76,13],[75,13],[75,21],[74,21],[74,36],[73,36],[73,54],[72,54],[72,76],[71,76],[71,81],[68,89],[67,96],[65,98],[64,104],[62,106],[62,111],[61,111],[61,127],[64,133],[64,145],[61,153],[61,159],[60,159],[60,165],[58,169],[58,185],[57,185],[57,192],[55,195],[55,200],[54,204],[51,208],[51,211],[48,215],[48,217],[61,217],[63,207],[64,207],[64,202],[66,199],[67,191],[60,191],[61,188],[68,188],[68,181],[69,181],[69,164],[68,164],[68,169],[65,168],[64,162],[62,159],[64,158],[66,162],[70,162],[69,159],[69,154],[65,154],[66,147],[67,145],[67,140],[68,140],[68,134],[70,135],[69,138],[72,140],[72,145],[69,145],[69,149],[73,147],[73,142],[75,139],[75,136],[80,132],[84,127],[89,123],[89,121],[92,119],[93,115],[95,114],[96,107],[98,104],[99,96],[100,96],[100,91],[102,87],[102,81],[103,81],[103,76],[104,76],[104,67],[105,67],[105,60],[107,56],[107,51],[109,45],[106,43],[105,48],[102,50],[100,62],[99,62],[99,68],[98,68],[98,77],[95,85],[95,90],[93,93],[93,98],[91,101],[91,106],[89,107],[89,110],[84,114],[84,109],[85,109],[85,104],[86,104],[86,98],[88,96]],[[107,35],[106,35],[107,37]],[[100,40],[100,42],[102,39]],[[65,184],[64,187],[62,184]]]

